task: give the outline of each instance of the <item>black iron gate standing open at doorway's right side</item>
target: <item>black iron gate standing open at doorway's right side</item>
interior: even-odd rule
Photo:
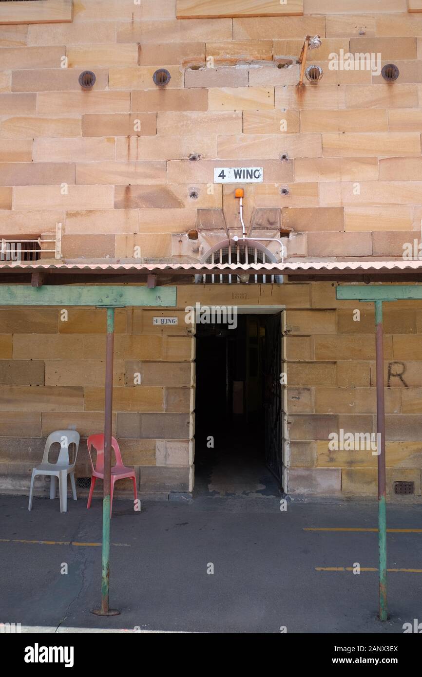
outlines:
[[[282,484],[281,313],[266,320],[265,443],[266,464]]]

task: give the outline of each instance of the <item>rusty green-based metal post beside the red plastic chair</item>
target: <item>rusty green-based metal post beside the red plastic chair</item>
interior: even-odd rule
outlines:
[[[110,609],[110,481],[111,481],[111,433],[113,414],[113,348],[114,348],[114,308],[107,308],[106,343],[106,397],[104,405],[104,482],[102,498],[102,579],[101,609],[93,613],[99,616],[116,616],[120,613]]]

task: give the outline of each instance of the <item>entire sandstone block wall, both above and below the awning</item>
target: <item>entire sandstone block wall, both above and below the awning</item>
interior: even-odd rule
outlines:
[[[263,183],[245,185],[245,221],[252,236],[290,230],[290,258],[401,258],[419,242],[420,0],[409,12],[406,0],[304,0],[303,16],[192,20],[176,18],[175,0],[74,0],[71,21],[69,0],[53,4],[63,21],[0,25],[0,237],[54,239],[62,223],[64,261],[195,261],[224,236],[221,210],[239,232],[234,186],[214,184],[214,167],[254,165]],[[308,33],[321,36],[308,63],[324,76],[298,89]],[[380,53],[398,81],[330,70],[341,49]],[[152,81],[160,67],[165,89]],[[85,69],[91,91],[79,87]],[[375,494],[375,456],[328,450],[333,431],[375,431],[372,307],[356,322],[356,304],[324,282],[238,289],[180,286],[177,312],[196,301],[287,308],[284,487]],[[406,368],[386,390],[387,489],[410,479],[417,496],[421,311],[385,308],[386,378],[389,363]],[[160,313],[117,313],[113,431],[142,489],[188,491],[194,339],[182,320],[154,328]],[[2,488],[19,490],[51,430],[102,429],[105,318],[28,308],[0,318]],[[84,445],[78,472],[89,474]]]

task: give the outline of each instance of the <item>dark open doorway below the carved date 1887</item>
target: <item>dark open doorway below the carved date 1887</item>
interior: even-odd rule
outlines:
[[[196,325],[196,495],[277,496],[281,313]]]

